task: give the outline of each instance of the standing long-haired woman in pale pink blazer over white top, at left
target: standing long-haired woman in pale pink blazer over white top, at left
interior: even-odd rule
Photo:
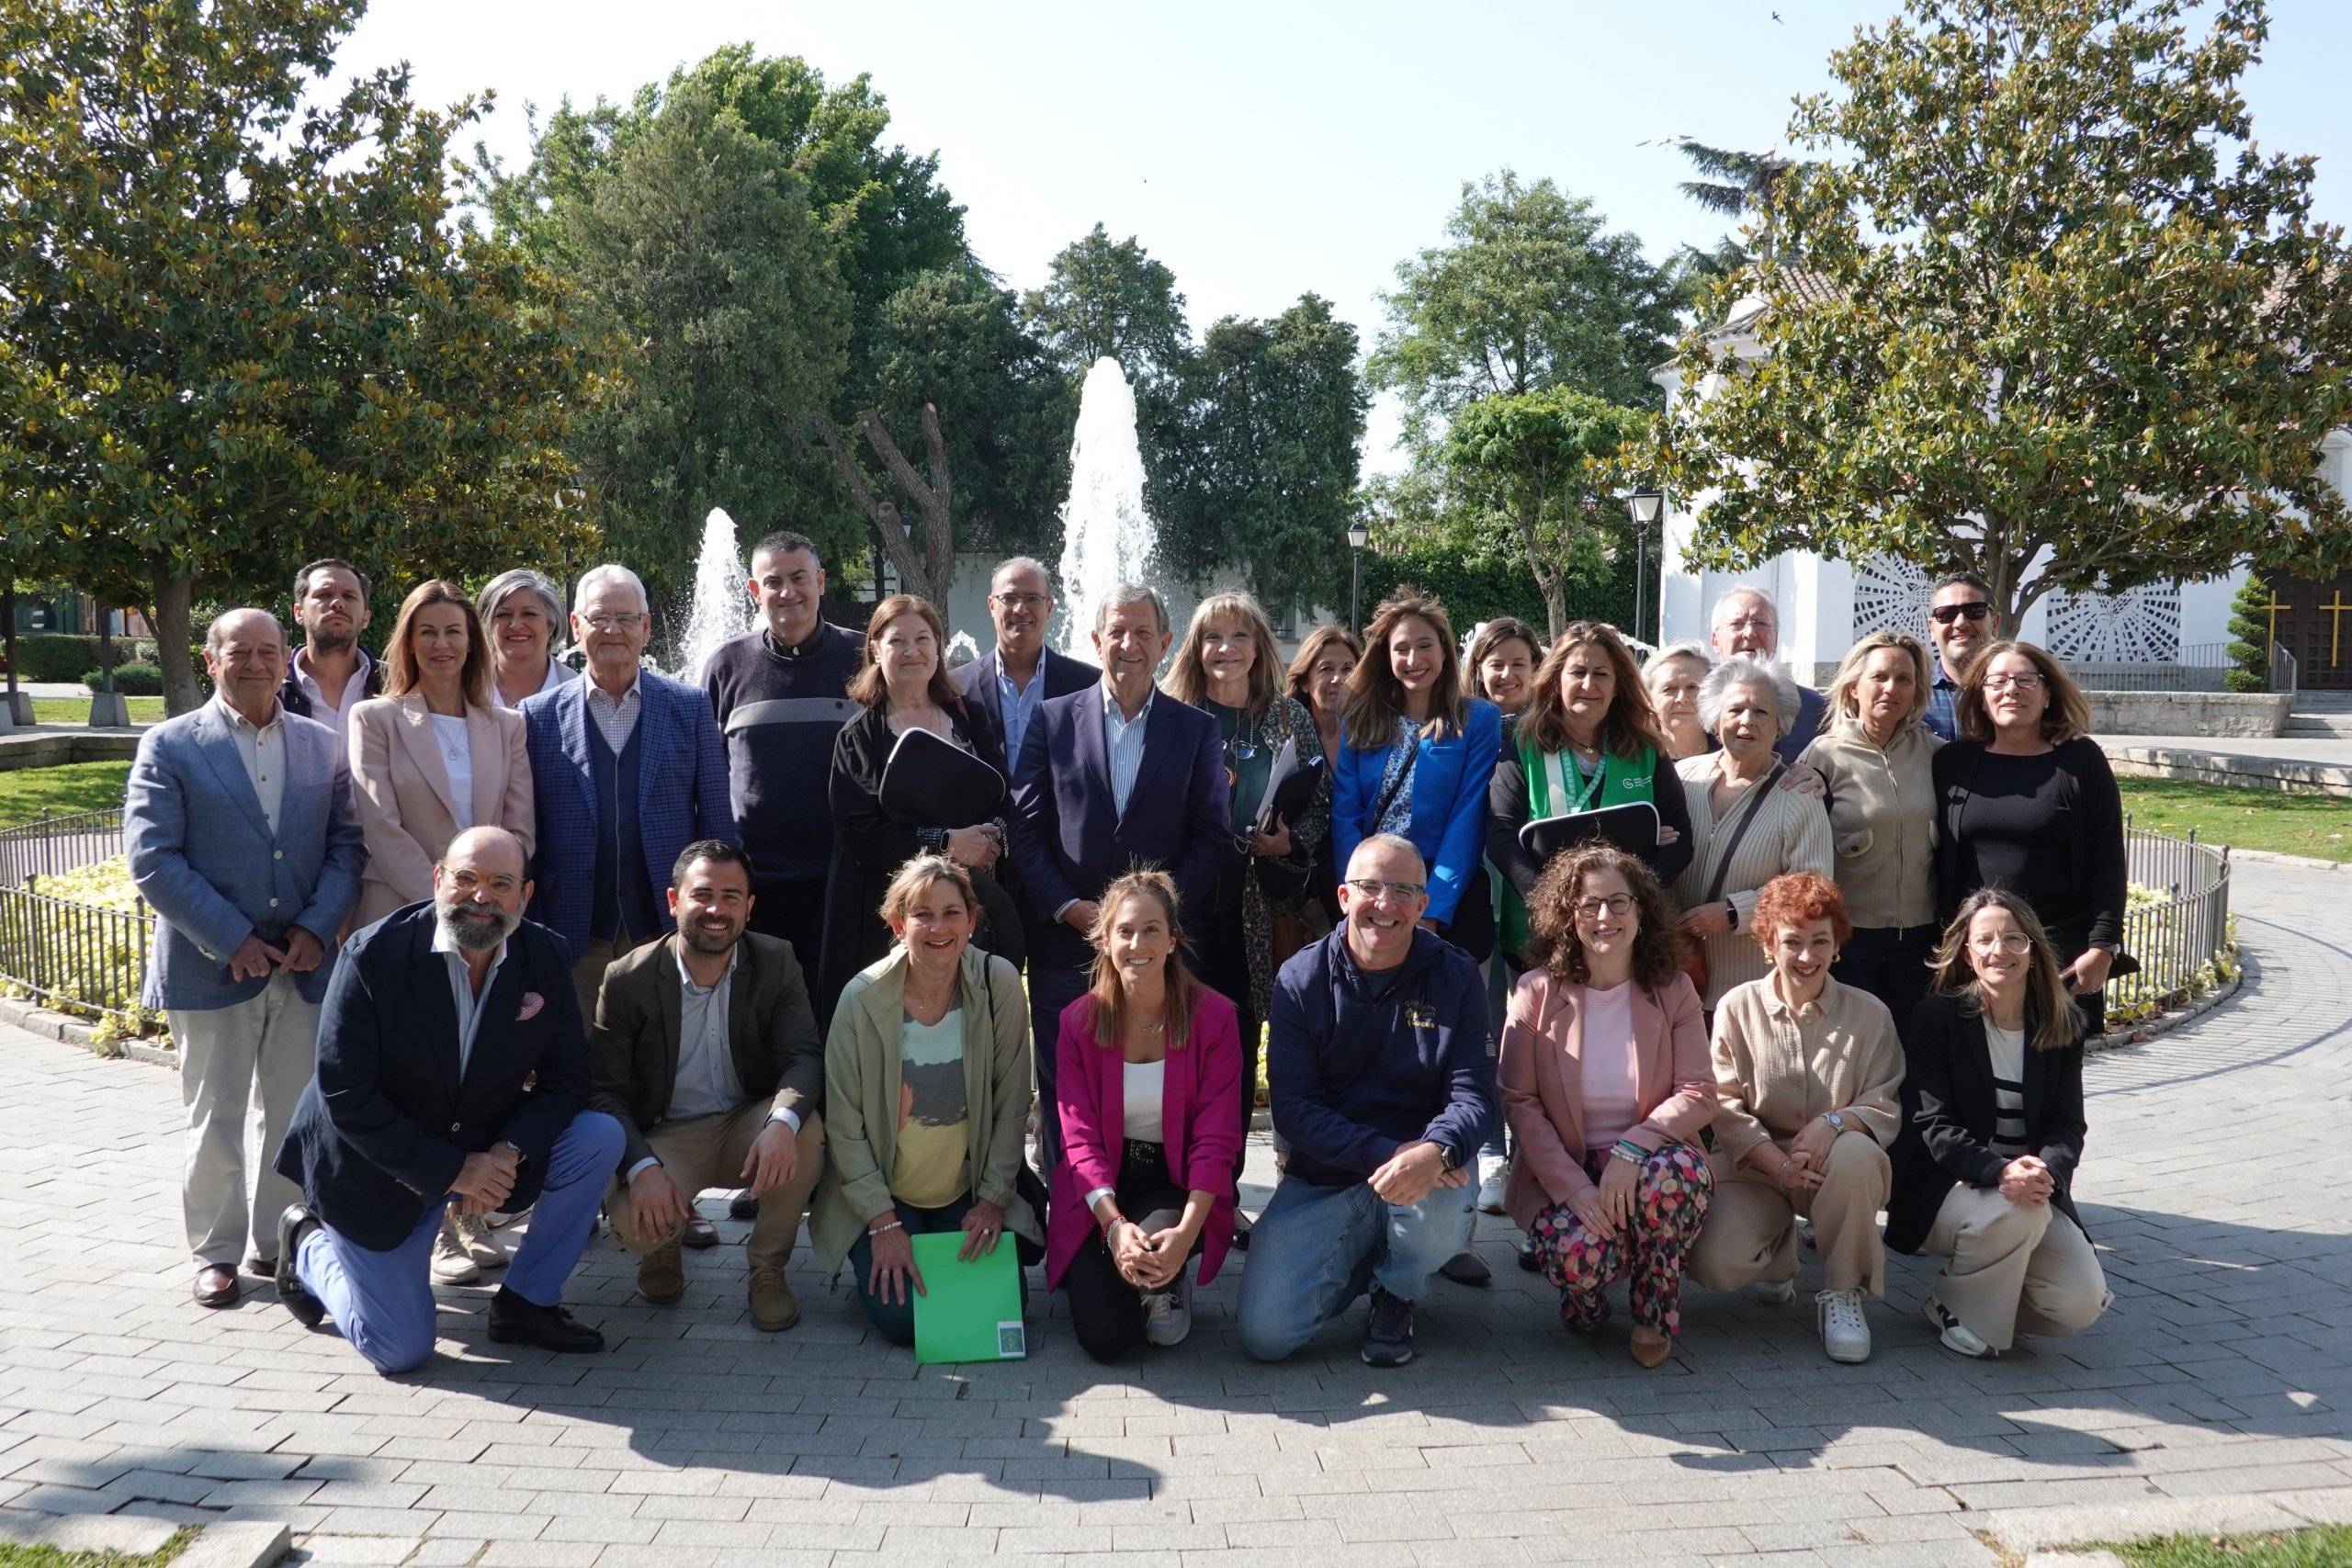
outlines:
[[[489,701],[489,642],[456,583],[419,583],[383,654],[383,696],[350,719],[350,785],[367,835],[358,924],[433,896],[433,863],[496,823],[532,849],[520,712]]]

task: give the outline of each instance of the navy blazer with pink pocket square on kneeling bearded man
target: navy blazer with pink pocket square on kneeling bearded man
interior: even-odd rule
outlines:
[[[508,1204],[529,1206],[555,1138],[588,1107],[588,1030],[553,931],[522,922],[506,938],[480,1018],[461,1081],[456,999],[449,961],[433,952],[430,903],[386,914],[343,947],[318,1018],[318,1072],[278,1173],[360,1246],[400,1246],[466,1157],[501,1140],[522,1150]]]

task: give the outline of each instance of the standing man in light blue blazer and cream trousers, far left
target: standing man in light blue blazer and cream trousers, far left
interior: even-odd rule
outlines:
[[[318,1004],[367,849],[350,806],[343,733],[285,710],[278,621],[233,609],[205,632],[214,698],[139,736],[122,797],[132,882],[155,910],[141,1001],[172,1016],[188,1157],[181,1218],[195,1300],[238,1300],[252,1239],[294,1187],[263,1166],[247,1197],[245,1112],[261,1098],[263,1154],[310,1081]]]

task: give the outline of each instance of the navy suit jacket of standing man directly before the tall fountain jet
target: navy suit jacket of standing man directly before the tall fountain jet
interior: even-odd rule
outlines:
[[[1164,691],[1143,722],[1143,766],[1127,813],[1110,806],[1103,686],[1049,698],[1014,764],[1014,865],[1037,917],[1030,961],[1082,969],[1094,950],[1054,919],[1073,898],[1101,898],[1112,877],[1157,865],[1176,879],[1185,919],[1207,919],[1225,827],[1225,738],[1216,719]]]

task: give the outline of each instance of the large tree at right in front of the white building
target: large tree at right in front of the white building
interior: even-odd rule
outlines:
[[[2319,442],[2352,418],[2343,230],[2260,155],[2260,0],[1910,0],[1830,59],[1773,188],[1757,353],[1684,339],[1651,461],[1696,559],[1896,552],[2122,592],[2352,559]]]

